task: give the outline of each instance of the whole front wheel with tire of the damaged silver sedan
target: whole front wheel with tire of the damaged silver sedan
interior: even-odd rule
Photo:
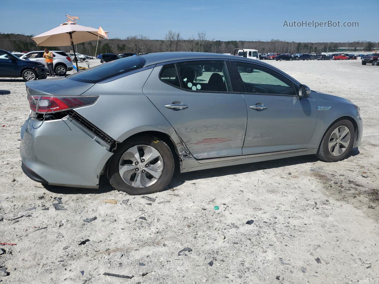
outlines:
[[[340,120],[325,133],[316,156],[326,162],[342,161],[354,142],[354,126],[349,120]]]

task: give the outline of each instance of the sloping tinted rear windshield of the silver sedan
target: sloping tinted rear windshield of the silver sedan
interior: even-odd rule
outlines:
[[[146,60],[141,56],[129,56],[71,74],[66,78],[83,83],[98,83],[113,76],[140,69],[145,63]]]

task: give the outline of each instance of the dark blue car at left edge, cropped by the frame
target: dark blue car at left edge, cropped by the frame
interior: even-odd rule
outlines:
[[[22,60],[13,53],[0,49],[0,77],[22,77],[24,81],[45,79],[46,66],[38,61]]]

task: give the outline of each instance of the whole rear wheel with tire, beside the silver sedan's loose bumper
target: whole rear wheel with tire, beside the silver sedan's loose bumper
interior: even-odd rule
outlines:
[[[130,195],[160,192],[174,173],[170,147],[157,138],[142,136],[125,141],[109,164],[111,185]]]

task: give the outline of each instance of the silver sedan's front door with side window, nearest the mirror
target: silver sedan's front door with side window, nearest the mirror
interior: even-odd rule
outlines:
[[[300,98],[293,81],[274,69],[233,63],[247,106],[243,154],[308,148],[317,120],[315,101]]]

